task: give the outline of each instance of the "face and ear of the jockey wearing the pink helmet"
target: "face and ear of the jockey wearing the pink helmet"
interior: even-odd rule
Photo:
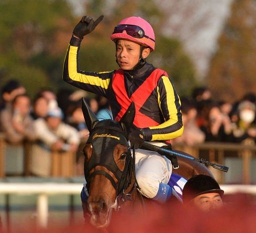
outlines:
[[[129,40],[119,39],[116,42],[116,60],[123,70],[132,70],[139,60],[140,45]],[[149,48],[144,48],[142,57],[146,58],[150,52]]]

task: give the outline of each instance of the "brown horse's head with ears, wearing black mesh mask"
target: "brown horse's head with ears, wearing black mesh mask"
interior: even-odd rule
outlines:
[[[83,149],[84,176],[89,194],[87,208],[91,224],[105,227],[112,209],[117,208],[117,197],[132,186],[132,161],[127,135],[135,108],[132,103],[119,122],[98,121],[85,101],[82,101],[82,111],[90,132]]]

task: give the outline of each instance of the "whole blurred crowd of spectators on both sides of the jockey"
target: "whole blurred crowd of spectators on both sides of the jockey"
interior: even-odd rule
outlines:
[[[81,90],[61,89],[54,93],[50,89],[42,89],[30,99],[21,83],[10,80],[1,88],[0,131],[9,144],[29,140],[44,152],[76,152],[78,164],[81,164],[82,144],[89,134],[80,107],[81,97],[85,98],[99,120],[112,118],[111,109],[103,97],[88,98],[87,93]],[[172,144],[240,143],[247,138],[255,142],[255,94],[247,93],[231,103],[216,101],[208,88],[198,87],[191,96],[180,97],[180,101],[184,132],[181,137],[171,140]],[[50,162],[49,159],[45,162],[45,158],[34,158],[34,163],[44,163],[45,169],[49,170]],[[81,173],[82,170],[80,167]],[[33,173],[49,175],[49,171],[41,173],[36,169]]]

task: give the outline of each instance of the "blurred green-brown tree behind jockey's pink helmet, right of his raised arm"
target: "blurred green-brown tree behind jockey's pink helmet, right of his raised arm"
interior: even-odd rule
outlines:
[[[109,71],[118,68],[114,58],[115,47],[109,38],[110,33],[122,18],[139,15],[150,22],[156,35],[154,54],[152,58],[149,55],[148,62],[167,71],[180,95],[189,95],[196,85],[193,64],[177,39],[162,36],[165,15],[155,1],[113,0],[107,6],[105,2],[105,0],[86,1],[87,14],[97,17],[102,12],[106,12],[106,15],[96,30],[84,37],[83,43],[86,43],[86,46],[82,46],[80,50],[80,67],[86,67],[86,70],[91,71]]]

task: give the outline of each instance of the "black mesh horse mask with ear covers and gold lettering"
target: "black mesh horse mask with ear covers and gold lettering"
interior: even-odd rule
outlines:
[[[82,99],[82,112],[90,132],[87,143],[92,145],[91,158],[87,163],[84,163],[84,177],[87,182],[87,189],[89,189],[89,183],[93,176],[103,175],[112,183],[116,194],[119,195],[129,185],[128,180],[130,180],[131,176],[129,171],[131,171],[130,166],[132,166],[130,162],[131,154],[129,149],[125,158],[124,170],[120,171],[113,158],[113,149],[117,144],[129,148],[127,136],[135,115],[134,103],[131,103],[119,122],[113,120],[98,121],[84,99]],[[96,166],[103,166],[112,172],[118,183],[115,184],[113,178],[104,171],[96,170],[89,174],[89,171]]]

